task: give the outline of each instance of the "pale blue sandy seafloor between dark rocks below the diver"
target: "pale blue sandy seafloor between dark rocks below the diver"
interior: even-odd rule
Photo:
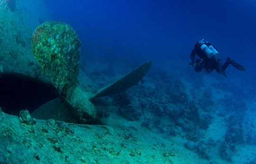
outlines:
[[[97,66],[98,65],[98,66]],[[116,74],[119,75],[121,66],[124,67],[123,64],[119,64],[117,63],[117,67],[116,69]],[[172,65],[172,69],[170,69],[170,65]],[[214,102],[211,105],[207,105],[209,103],[206,103],[205,108],[206,110],[201,109],[201,113],[210,113],[213,117],[213,121],[212,123],[209,125],[209,128],[207,130],[205,130],[205,135],[203,135],[203,137],[200,140],[208,140],[209,138],[212,138],[214,141],[217,142],[217,144],[212,148],[212,157],[210,157],[209,159],[205,159],[202,157],[202,154],[197,150],[193,150],[193,151],[188,151],[184,148],[184,143],[186,143],[188,140],[186,139],[186,134],[185,132],[181,132],[179,135],[177,136],[172,136],[170,135],[168,130],[163,130],[159,127],[157,127],[157,125],[153,128],[153,129],[148,129],[145,128],[143,126],[141,126],[141,124],[143,123],[143,121],[145,120],[145,117],[149,117],[149,118],[157,118],[160,119],[161,121],[165,122],[166,124],[170,124],[173,123],[172,118],[170,119],[169,117],[166,117],[166,115],[162,115],[161,117],[159,117],[158,115],[156,115],[155,113],[151,113],[151,112],[145,112],[143,116],[140,117],[140,121],[128,121],[127,119],[120,117],[118,114],[118,109],[116,107],[108,107],[109,109],[107,110],[110,113],[109,118],[103,118],[102,120],[104,122],[106,122],[108,125],[110,125],[111,127],[116,127],[117,124],[118,125],[125,125],[125,126],[132,126],[132,127],[139,127],[138,129],[141,129],[143,131],[147,131],[148,135],[146,138],[157,138],[156,140],[163,142],[166,145],[166,148],[168,147],[167,145],[177,145],[179,146],[182,150],[181,154],[186,154],[188,153],[188,156],[185,157],[185,159],[188,159],[189,162],[187,161],[183,161],[183,164],[192,164],[192,161],[195,161],[195,163],[198,164],[226,164],[226,163],[235,163],[235,164],[245,164],[247,162],[250,161],[250,164],[254,164],[255,161],[253,161],[255,159],[255,155],[256,155],[256,147],[255,145],[246,143],[247,141],[245,141],[245,143],[241,143],[241,144],[235,144],[236,145],[236,151],[233,153],[232,156],[232,162],[231,161],[227,161],[227,160],[223,160],[221,158],[220,155],[220,145],[222,141],[225,141],[225,135],[227,133],[227,129],[229,128],[229,121],[228,118],[230,115],[235,114],[235,115],[239,115],[241,114],[239,112],[239,110],[241,110],[240,107],[238,109],[238,111],[234,110],[234,107],[232,105],[227,105],[226,104],[232,104],[232,100],[234,99],[235,101],[238,101],[238,103],[241,102],[245,102],[246,106],[244,106],[244,109],[246,109],[245,115],[244,115],[244,119],[245,121],[242,121],[243,123],[248,121],[250,125],[245,126],[244,125],[244,136],[247,136],[248,133],[252,136],[255,136],[255,125],[256,122],[254,121],[256,112],[255,112],[255,102],[253,99],[251,98],[244,98],[242,96],[237,95],[235,92],[240,91],[239,90],[239,86],[237,84],[235,84],[236,82],[232,81],[232,79],[230,80],[226,80],[223,79],[223,77],[221,75],[218,75],[216,72],[212,73],[213,76],[211,76],[210,74],[207,74],[206,72],[201,72],[201,73],[196,73],[193,72],[193,70],[189,70],[189,69],[193,69],[190,67],[185,68],[187,73],[183,73],[183,66],[180,66],[179,63],[174,64],[174,63],[170,63],[169,61],[166,61],[164,63],[161,63],[159,66],[156,66],[152,69],[163,69],[163,71],[165,71],[165,73],[170,76],[170,78],[173,81],[180,81],[183,85],[184,85],[184,92],[188,95],[188,100],[189,101],[194,101],[196,102],[196,104],[200,104],[201,101],[206,101],[204,99],[204,93],[207,92],[207,89],[210,88],[210,90],[212,90],[211,94],[211,98],[210,101]],[[228,71],[236,71],[234,68],[232,68],[232,66],[229,66],[230,68],[228,69]],[[108,66],[104,64],[102,65],[101,63],[96,64],[93,63],[93,65],[88,64],[87,67],[87,71],[88,72],[94,72],[95,70],[100,71],[101,69],[107,69]],[[124,68],[124,71],[127,70],[128,68]],[[154,70],[152,71],[154,72]],[[193,74],[194,73],[194,74]],[[148,74],[151,74],[150,71]],[[152,75],[152,74],[151,74]],[[170,81],[166,81],[164,79],[161,79],[159,77],[155,77],[152,78],[152,76],[154,77],[154,75],[148,75],[145,78],[146,83],[144,84],[140,84],[145,86],[146,88],[151,88],[152,90],[155,88],[155,86],[157,84],[160,84],[161,86],[165,86],[168,85],[168,83],[170,83]],[[150,76],[150,77],[149,77]],[[219,77],[218,77],[219,76]],[[104,76],[105,77],[105,76]],[[120,75],[121,77],[121,75]],[[198,80],[195,80],[196,78],[199,78]],[[96,78],[98,80],[98,78]],[[110,78],[111,80],[113,80],[112,78]],[[223,80],[221,80],[223,79]],[[110,81],[111,81],[110,80]],[[171,81],[172,81],[171,80]],[[100,80],[99,80],[100,81]],[[108,79],[104,79],[104,81],[108,81]],[[223,82],[222,82],[223,81]],[[104,82],[103,82],[104,83]],[[110,83],[110,82],[108,82]],[[214,85],[218,84],[218,83],[224,83],[227,86],[230,86],[232,89],[231,90],[226,90],[227,88],[223,87],[213,87]],[[127,92],[128,93],[136,93],[133,94],[134,96],[134,100],[132,101],[133,105],[137,105],[139,104],[139,102],[137,101],[137,97],[136,95],[139,97],[139,99],[143,99],[143,96],[140,96],[140,93],[138,92],[137,88],[138,86],[134,86],[133,88],[129,89]],[[193,96],[194,91],[192,91],[194,88],[196,88],[196,90],[198,90],[198,93],[196,93],[196,97]],[[182,89],[181,89],[182,90]],[[147,92],[148,89],[144,90],[143,92]],[[231,91],[231,92],[230,92]],[[159,91],[162,92],[162,91]],[[157,93],[156,93],[157,94]],[[162,93],[160,93],[162,94]],[[164,93],[163,95],[161,95],[162,97],[165,97],[165,94],[168,95],[168,93]],[[154,99],[155,95],[151,95],[151,98]],[[209,100],[209,99],[208,99]],[[219,103],[219,102],[223,102],[225,101],[225,103]],[[159,101],[155,101],[155,103],[159,103]],[[167,101],[166,101],[167,103]],[[159,105],[161,106],[161,103],[159,103]],[[154,106],[154,105],[153,105]],[[202,106],[202,105],[201,105]],[[204,106],[202,106],[204,107]],[[230,108],[230,109],[229,109]],[[212,111],[208,111],[208,109],[212,110]],[[234,110],[234,111],[232,111]],[[150,111],[150,110],[149,110]],[[225,112],[223,115],[219,114],[222,113],[223,111],[228,111]],[[237,123],[240,124],[241,121],[235,120],[232,123]],[[243,124],[242,123],[242,124]],[[252,130],[254,129],[254,130]],[[163,132],[164,131],[164,132]],[[250,131],[250,132],[249,132]],[[233,131],[234,133],[236,133],[236,131]],[[138,134],[140,135],[140,134]],[[233,134],[234,136],[236,136],[236,134]],[[141,137],[143,139],[146,139],[145,137],[143,137],[144,135],[142,135]],[[144,142],[146,144],[146,142],[148,142],[149,140],[146,139]],[[153,139],[155,140],[155,139]],[[199,142],[198,141],[198,142]],[[151,141],[152,142],[152,141]],[[196,142],[196,143],[198,143]],[[179,154],[179,153],[178,153]],[[176,163],[180,163],[180,161],[177,161],[177,159],[172,158],[172,161],[174,162],[174,164]],[[154,163],[154,162],[153,162]]]

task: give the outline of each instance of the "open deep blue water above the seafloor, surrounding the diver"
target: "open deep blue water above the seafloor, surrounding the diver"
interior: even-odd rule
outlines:
[[[226,74],[254,90],[256,3],[252,0],[46,2],[53,20],[76,30],[84,61],[93,57],[155,64],[167,60],[185,69],[196,41],[205,39],[219,49],[221,60],[231,57],[247,68],[245,72],[229,68]]]

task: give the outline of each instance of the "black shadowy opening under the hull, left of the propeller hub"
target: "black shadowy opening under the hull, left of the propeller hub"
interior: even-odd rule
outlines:
[[[54,86],[24,76],[0,77],[0,107],[2,111],[18,115],[21,110],[34,112],[39,106],[59,97]]]

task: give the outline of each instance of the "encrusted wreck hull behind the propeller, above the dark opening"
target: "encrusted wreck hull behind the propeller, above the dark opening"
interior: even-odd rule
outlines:
[[[51,20],[45,2],[0,0],[0,18],[0,75],[13,73],[50,84],[30,45],[37,26]]]

